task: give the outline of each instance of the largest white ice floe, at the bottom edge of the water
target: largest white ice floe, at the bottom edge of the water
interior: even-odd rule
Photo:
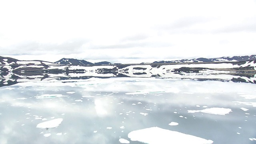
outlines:
[[[146,144],[212,144],[212,140],[206,140],[197,136],[183,134],[158,127],[134,130],[128,134],[132,141]]]

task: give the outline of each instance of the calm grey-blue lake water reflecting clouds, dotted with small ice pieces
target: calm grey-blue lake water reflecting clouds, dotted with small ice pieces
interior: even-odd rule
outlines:
[[[210,108],[220,108],[219,114],[200,111]],[[225,113],[228,109],[231,111]],[[55,128],[36,127],[57,118],[63,121]],[[178,125],[170,126],[171,122]],[[0,88],[1,144],[118,144],[120,138],[140,144],[128,134],[151,127],[214,144],[255,144],[256,85],[89,78],[20,82]]]

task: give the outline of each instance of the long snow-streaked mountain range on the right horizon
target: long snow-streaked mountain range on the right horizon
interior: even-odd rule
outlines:
[[[194,59],[182,59],[173,61],[156,61],[153,64],[160,63],[184,63],[184,62],[242,62],[248,60],[256,60],[256,55],[251,56],[233,56],[233,57],[221,57],[221,58],[194,58]]]

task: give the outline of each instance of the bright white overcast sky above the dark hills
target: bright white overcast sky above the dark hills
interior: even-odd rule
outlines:
[[[256,54],[256,0],[0,0],[0,56],[140,63]]]

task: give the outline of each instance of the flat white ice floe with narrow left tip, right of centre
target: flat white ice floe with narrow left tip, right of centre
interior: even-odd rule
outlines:
[[[229,112],[232,112],[232,110],[230,108],[206,108],[204,110],[188,110],[188,113],[195,113],[195,112],[225,115],[225,114],[229,114]]]

